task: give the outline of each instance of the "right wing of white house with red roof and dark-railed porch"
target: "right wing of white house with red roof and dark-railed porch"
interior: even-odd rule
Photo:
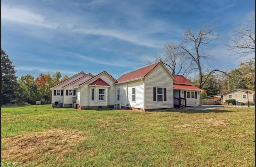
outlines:
[[[202,89],[195,87],[190,80],[181,75],[173,75],[174,106],[188,107],[200,105],[200,92]]]

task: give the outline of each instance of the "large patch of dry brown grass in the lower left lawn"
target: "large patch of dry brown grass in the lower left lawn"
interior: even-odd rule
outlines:
[[[54,129],[38,133],[28,133],[15,137],[2,138],[4,149],[1,150],[2,160],[26,163],[28,161],[44,161],[46,155],[57,153],[56,161],[61,161],[66,153],[78,141],[87,137],[80,131]]]

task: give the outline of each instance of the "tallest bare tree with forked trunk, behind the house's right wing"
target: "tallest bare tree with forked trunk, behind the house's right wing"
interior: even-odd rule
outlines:
[[[188,28],[184,32],[184,40],[179,46],[179,48],[183,50],[187,59],[190,60],[190,64],[194,65],[194,69],[199,74],[199,88],[202,88],[211,74],[216,72],[225,73],[218,69],[214,69],[210,71],[208,76],[205,77],[205,80],[203,80],[204,67],[202,66],[202,60],[207,61],[212,59],[212,56],[207,53],[207,46],[211,45],[214,40],[218,39],[218,36],[215,34],[216,30],[218,30],[218,28],[213,25],[201,26],[196,31]]]

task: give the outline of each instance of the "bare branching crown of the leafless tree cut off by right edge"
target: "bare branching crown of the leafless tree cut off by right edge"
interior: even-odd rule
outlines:
[[[237,28],[231,31],[231,44],[227,46],[234,52],[232,56],[238,55],[245,59],[244,62],[255,64],[255,14],[250,14],[245,24],[239,22]]]

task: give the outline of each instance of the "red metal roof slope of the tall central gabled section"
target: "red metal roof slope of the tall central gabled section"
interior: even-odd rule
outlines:
[[[136,78],[142,78],[145,77],[151,70],[153,70],[160,62],[157,62],[155,64],[151,64],[150,66],[146,66],[144,68],[140,68],[138,70],[135,70],[133,72],[129,72],[127,74],[122,75],[120,78],[117,79],[117,82],[124,82],[128,80],[134,80]]]

